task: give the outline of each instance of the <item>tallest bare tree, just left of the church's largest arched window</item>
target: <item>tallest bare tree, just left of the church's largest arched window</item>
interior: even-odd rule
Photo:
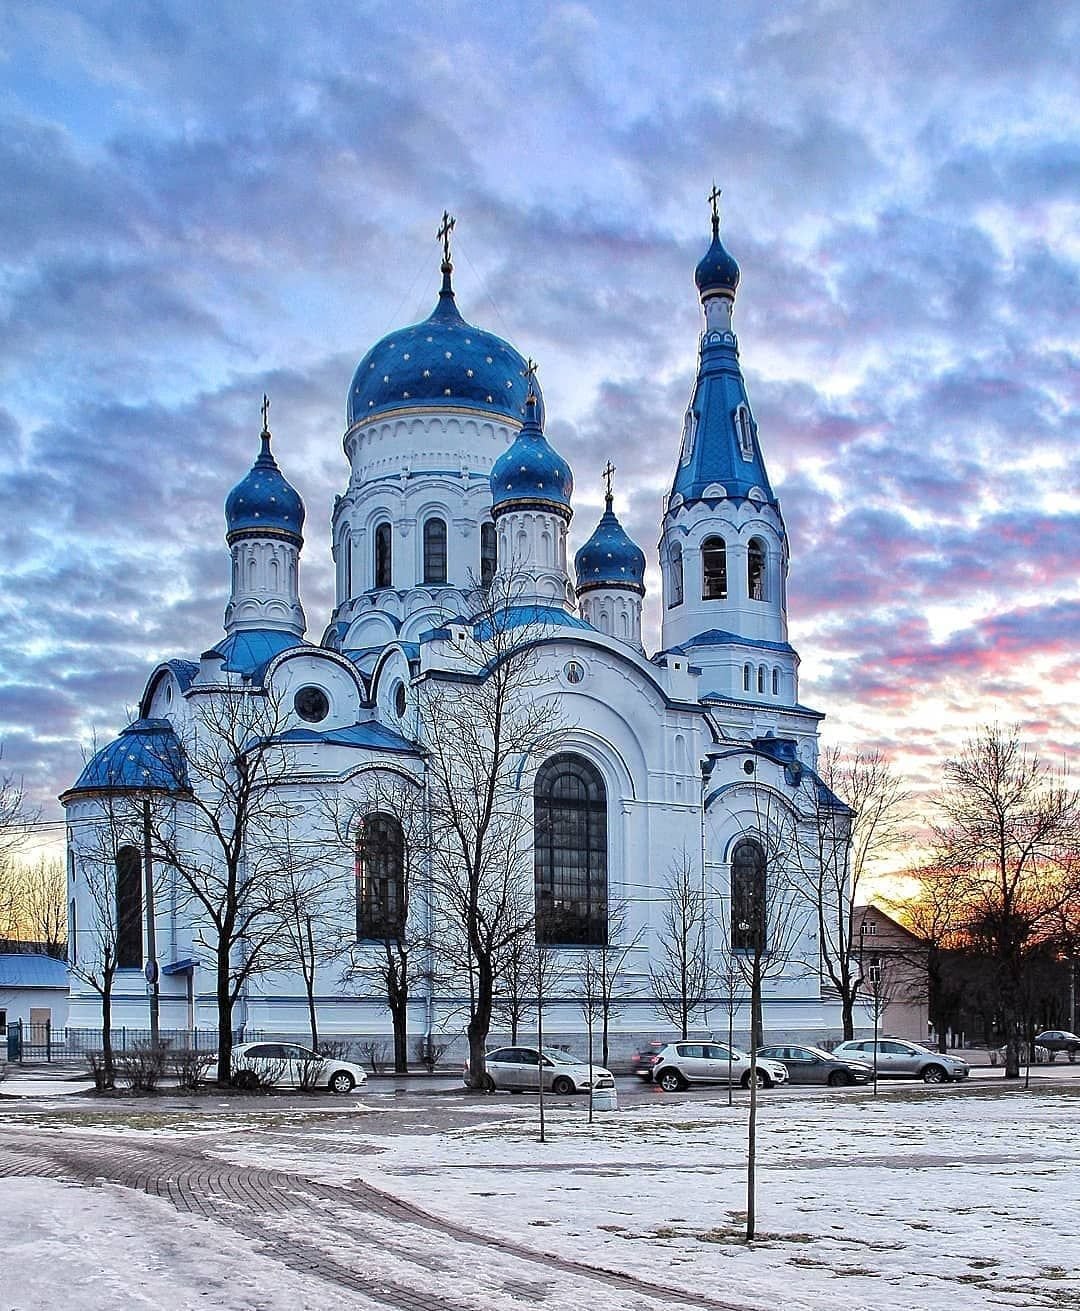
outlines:
[[[554,749],[565,722],[537,658],[547,629],[497,579],[473,595],[472,619],[446,627],[442,669],[417,684],[425,750],[436,943],[469,975],[469,1070],[486,1080],[485,1044],[499,970],[535,932],[532,804],[523,780]],[[463,949],[464,948],[464,949]]]

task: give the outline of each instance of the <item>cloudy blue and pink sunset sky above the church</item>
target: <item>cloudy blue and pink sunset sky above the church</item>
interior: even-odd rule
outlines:
[[[916,789],[990,721],[1073,751],[1080,8],[0,16],[0,738],[47,821],[222,636],[263,392],[321,636],[346,389],[434,305],[444,208],[459,308],[539,362],[571,549],[617,465],[655,649],[714,182],[824,739]]]

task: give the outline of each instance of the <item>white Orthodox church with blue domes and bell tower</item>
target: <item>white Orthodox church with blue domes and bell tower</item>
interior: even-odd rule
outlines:
[[[304,505],[271,452],[263,405],[258,456],[225,499],[232,582],[224,636],[198,658],[159,665],[139,718],[62,797],[69,950],[85,964],[101,949],[100,918],[115,915],[114,1027],[147,1028],[148,979],[163,1030],[216,1025],[204,924],[169,885],[165,867],[156,871],[148,923],[138,806],[118,805],[156,781],[165,788],[163,762],[197,793],[211,785],[183,759],[197,708],[273,696],[286,716],[283,785],[294,796],[305,788],[324,798],[355,796],[358,781],[380,773],[422,787],[417,699],[425,687],[452,691],[460,676],[455,641],[476,619],[469,607],[478,589],[498,587],[511,573],[543,695],[565,725],[544,759],[523,763],[519,780],[533,847],[533,931],[564,956],[562,982],[545,1004],[556,1041],[582,1033],[573,979],[590,952],[619,945],[613,933],[629,944],[613,1049],[672,1032],[654,978],[675,863],[688,863],[701,889],[703,950],[737,954],[754,932],[747,889],[781,873],[771,868],[763,802],[788,815],[793,831],[813,825],[823,796],[847,813],[814,772],[823,716],[800,701],[800,661],[788,641],[788,534],[739,367],[739,267],[721,241],[716,199],[712,243],[695,273],[704,324],[680,439],[672,416],[672,479],[658,526],[661,645],[651,654],[641,625],[645,556],[615,514],[611,471],[606,510],[570,561],[573,475],[544,435],[535,366],[463,317],[451,227],[444,222],[440,232],[443,281],[431,315],[376,342],[349,385],[347,477],[330,519],[336,606],[321,635],[307,636],[301,604]],[[174,804],[198,843],[198,813],[185,819],[183,797]],[[104,823],[117,814],[128,815],[130,831],[114,844],[114,894],[102,903],[90,874],[104,859]],[[380,950],[387,907],[396,905],[388,880],[398,867],[341,861],[336,905],[351,906],[354,958]],[[623,912],[612,928],[615,906]],[[803,915],[769,970],[765,1027],[773,1041],[839,1033],[817,933],[817,915]],[[413,983],[410,1047],[425,1033],[461,1034],[460,991],[434,971]],[[705,991],[695,1032],[726,1033],[734,1011],[734,1030],[746,1040],[746,987],[731,982],[722,961]],[[339,961],[320,961],[313,994],[320,1036],[389,1036],[385,998],[355,978],[346,985]],[[299,969],[252,973],[233,1023],[248,1034],[305,1036]],[[69,1024],[101,1027],[98,994],[75,975]],[[493,1038],[501,1032],[497,1021]]]

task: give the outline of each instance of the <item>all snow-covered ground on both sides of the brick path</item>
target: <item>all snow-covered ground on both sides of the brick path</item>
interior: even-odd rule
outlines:
[[[370,1101],[337,1103],[333,1114],[296,1116],[292,1126],[287,1114],[237,1116],[198,1137],[223,1159],[336,1184],[363,1179],[481,1234],[747,1308],[1080,1307],[1080,1087],[764,1096],[759,1236],[750,1248],[741,1240],[743,1096],[734,1108],[726,1093],[649,1101],[598,1114],[591,1126],[583,1106],[557,1108],[544,1145],[535,1110],[516,1099],[473,1103],[469,1122],[452,1130],[438,1127],[433,1100],[398,1104],[392,1134],[366,1131],[370,1110]],[[156,1133],[198,1127],[207,1126],[185,1116]],[[125,1134],[142,1131],[149,1130]],[[433,1242],[422,1232],[415,1240]],[[177,1217],[164,1202],[114,1188],[0,1180],[0,1245],[29,1299],[0,1295],[0,1306],[115,1306],[107,1270],[122,1272],[132,1243],[149,1274],[128,1304],[277,1311],[326,1301],[317,1280],[254,1256],[227,1230]],[[433,1274],[433,1290],[472,1285],[446,1261],[460,1253],[464,1276],[465,1261],[482,1266],[486,1257],[436,1245],[442,1274]],[[98,1301],[58,1301],[55,1285],[47,1295],[22,1278],[80,1264],[106,1272],[94,1286]],[[168,1297],[153,1282],[159,1272]],[[258,1295],[245,1301],[237,1277]],[[185,1301],[189,1291],[193,1301]],[[469,1291],[476,1301],[468,1304],[514,1304],[484,1302],[480,1286]],[[368,1306],[341,1289],[332,1297],[339,1307]],[[625,1297],[560,1277],[541,1304],[617,1308]]]

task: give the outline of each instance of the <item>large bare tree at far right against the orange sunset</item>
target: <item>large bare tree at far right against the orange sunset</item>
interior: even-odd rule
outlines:
[[[982,729],[944,773],[925,876],[950,885],[955,928],[995,965],[1005,1078],[1016,1079],[1029,957],[1080,898],[1080,794],[1018,728]]]

